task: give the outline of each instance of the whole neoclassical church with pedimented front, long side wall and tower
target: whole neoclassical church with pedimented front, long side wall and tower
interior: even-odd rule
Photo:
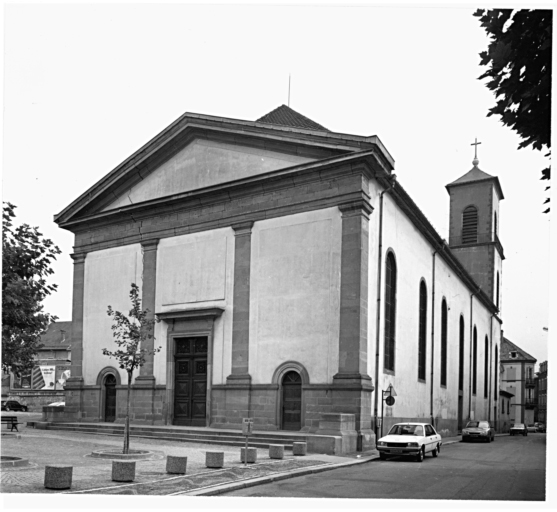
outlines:
[[[123,418],[102,349],[136,283],[161,351],[132,422],[315,432],[351,413],[365,449],[397,421],[494,420],[503,194],[477,163],[447,185],[447,243],[376,136],[284,105],[186,113],[55,216],[75,234],[68,419]]]

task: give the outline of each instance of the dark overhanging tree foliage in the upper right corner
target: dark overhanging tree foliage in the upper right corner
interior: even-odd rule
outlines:
[[[501,116],[518,133],[518,149],[532,146],[550,156],[553,11],[478,9],[474,16],[491,40],[480,53],[480,65],[488,70],[479,77],[489,79],[487,87],[497,98],[488,117]],[[551,166],[542,170],[541,179],[551,179]]]

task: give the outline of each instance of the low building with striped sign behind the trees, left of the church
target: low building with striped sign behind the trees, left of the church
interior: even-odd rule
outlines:
[[[70,376],[71,322],[55,322],[41,335],[36,365],[20,376],[11,375],[10,399],[17,399],[32,410],[64,400],[64,387]]]

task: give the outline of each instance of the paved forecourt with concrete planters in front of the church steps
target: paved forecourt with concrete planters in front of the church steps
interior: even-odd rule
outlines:
[[[156,496],[210,496],[244,487],[268,483],[335,468],[363,464],[378,459],[376,450],[348,456],[308,454],[294,457],[286,451],[283,460],[273,460],[265,449],[258,449],[257,462],[247,467],[240,462],[240,447],[130,439],[131,449],[153,452],[150,459],[136,462],[133,483],[117,483],[111,479],[112,460],[93,458],[93,451],[121,449],[121,437],[90,435],[78,432],[57,432],[20,427],[19,438],[4,435],[2,456],[22,457],[29,464],[2,467],[0,476],[3,493],[46,494],[135,494]],[[445,438],[443,444],[460,441]],[[224,468],[205,467],[206,451],[224,452]],[[187,456],[187,474],[166,473],[166,456]],[[65,491],[44,488],[44,467],[47,464],[73,466],[72,487]]]

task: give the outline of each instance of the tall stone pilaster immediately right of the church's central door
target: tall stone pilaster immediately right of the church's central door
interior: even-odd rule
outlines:
[[[232,310],[232,373],[227,383],[247,384],[249,375],[249,300],[251,270],[251,229],[253,222],[233,225],[234,293]]]

